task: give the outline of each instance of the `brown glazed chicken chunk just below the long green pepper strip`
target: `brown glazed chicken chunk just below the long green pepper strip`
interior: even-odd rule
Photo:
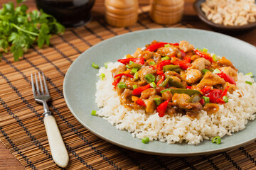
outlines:
[[[200,111],[203,107],[201,103],[188,103],[188,99],[190,96],[188,94],[174,94],[172,101],[174,103],[174,106],[177,106],[178,108],[184,108],[191,111]]]

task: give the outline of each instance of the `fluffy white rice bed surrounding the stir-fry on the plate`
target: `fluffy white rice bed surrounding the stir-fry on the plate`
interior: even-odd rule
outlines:
[[[233,132],[243,130],[248,120],[255,119],[256,112],[256,84],[246,84],[245,81],[254,82],[247,75],[238,73],[237,91],[228,93],[228,103],[219,105],[217,113],[208,114],[201,111],[196,118],[187,115],[164,115],[160,118],[156,111],[145,113],[143,110],[134,111],[124,108],[119,101],[117,92],[112,86],[111,70],[120,63],[110,63],[108,68],[100,68],[105,78],[97,81],[96,103],[100,108],[97,115],[102,116],[119,130],[127,130],[133,137],[149,140],[159,140],[174,144],[185,140],[188,145],[198,145],[203,140],[210,140],[215,136],[232,135]],[[240,92],[240,93],[239,93]],[[242,92],[242,93],[241,93]],[[242,97],[239,97],[243,94]]]

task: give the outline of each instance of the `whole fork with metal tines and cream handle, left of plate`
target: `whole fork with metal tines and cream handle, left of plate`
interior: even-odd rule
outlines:
[[[46,84],[46,78],[42,72],[43,82],[41,79],[41,74],[38,72],[39,82],[41,86],[41,90],[38,86],[38,79],[35,73],[35,81],[36,86],[33,82],[33,74],[31,74],[31,84],[33,90],[33,96],[38,103],[43,103],[43,122],[46,127],[46,134],[48,137],[48,142],[50,145],[50,152],[52,153],[53,160],[55,164],[58,166],[65,168],[68,165],[68,152],[64,145],[63,138],[60,135],[60,130],[58,129],[58,125],[56,123],[53,114],[49,111],[49,107],[47,102],[50,101],[50,94],[48,91],[48,87]],[[43,88],[44,84],[44,88]],[[45,89],[45,90],[44,90]]]

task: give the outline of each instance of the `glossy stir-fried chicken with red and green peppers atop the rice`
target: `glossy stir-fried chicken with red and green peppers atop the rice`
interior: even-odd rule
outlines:
[[[225,57],[199,50],[189,42],[153,41],[133,55],[117,60],[113,86],[127,108],[195,117],[198,111],[215,113],[237,89],[238,69]]]

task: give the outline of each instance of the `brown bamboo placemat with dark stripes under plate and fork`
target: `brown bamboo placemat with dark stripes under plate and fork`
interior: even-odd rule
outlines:
[[[43,107],[31,91],[30,74],[44,72],[53,111],[69,152],[66,169],[256,169],[255,142],[228,152],[197,157],[163,157],[133,152],[100,139],[84,128],[68,110],[63,79],[70,64],[85,50],[116,35],[149,28],[190,28],[186,22],[159,25],[141,7],[139,21],[128,28],[107,26],[95,17],[86,26],[54,35],[50,47],[34,46],[19,62],[4,55],[0,62],[0,140],[25,169],[60,169],[53,162],[43,125]]]

